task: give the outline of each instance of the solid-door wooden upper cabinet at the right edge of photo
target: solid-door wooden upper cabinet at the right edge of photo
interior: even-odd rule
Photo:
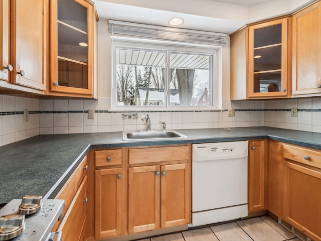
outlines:
[[[320,2],[292,16],[292,94],[321,93]]]

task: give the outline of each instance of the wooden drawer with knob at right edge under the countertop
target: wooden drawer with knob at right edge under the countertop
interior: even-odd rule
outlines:
[[[283,158],[321,168],[321,151],[283,145]]]

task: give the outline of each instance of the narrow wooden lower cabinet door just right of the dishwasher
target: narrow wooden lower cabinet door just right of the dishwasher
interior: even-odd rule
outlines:
[[[267,140],[249,141],[248,211],[266,209]]]

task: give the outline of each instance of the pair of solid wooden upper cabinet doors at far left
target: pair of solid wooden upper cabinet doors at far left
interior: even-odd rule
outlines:
[[[8,81],[7,84],[15,84],[2,86],[44,93],[47,81],[48,0],[4,0],[0,2],[0,12],[0,79]]]

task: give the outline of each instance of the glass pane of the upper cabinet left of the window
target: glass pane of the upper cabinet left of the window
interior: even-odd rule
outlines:
[[[58,0],[57,25],[59,85],[88,88],[87,8],[74,0]]]

